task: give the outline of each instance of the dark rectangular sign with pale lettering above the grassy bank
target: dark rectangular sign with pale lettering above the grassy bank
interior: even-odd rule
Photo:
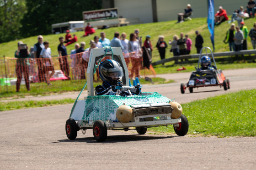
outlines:
[[[109,8],[104,10],[90,10],[83,12],[83,19],[85,22],[96,20],[117,19],[117,8]]]

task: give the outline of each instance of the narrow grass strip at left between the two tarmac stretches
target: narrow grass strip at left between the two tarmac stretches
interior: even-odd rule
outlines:
[[[47,100],[47,101],[11,101],[11,102],[0,102],[0,111],[5,110],[17,110],[17,109],[27,109],[32,107],[44,107],[52,105],[66,105],[74,103],[74,99],[63,99],[63,100]]]

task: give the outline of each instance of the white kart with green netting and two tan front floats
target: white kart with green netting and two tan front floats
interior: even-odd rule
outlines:
[[[130,94],[135,89],[129,86],[128,69],[120,47],[91,49],[86,72],[88,96],[84,100],[76,100],[65,125],[70,140],[75,140],[77,131],[82,130],[85,134],[87,129],[92,129],[97,141],[107,139],[107,130],[137,130],[144,135],[149,127],[167,125],[173,125],[177,135],[187,134],[188,121],[182,115],[181,105],[157,92],[127,97],[120,96],[118,92],[116,95],[96,96],[93,72],[103,57],[112,57],[121,64],[124,71],[121,90]]]

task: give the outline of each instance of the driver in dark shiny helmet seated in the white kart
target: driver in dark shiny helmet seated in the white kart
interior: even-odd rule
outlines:
[[[121,90],[123,83],[123,68],[115,60],[104,60],[99,65],[100,78],[103,81],[102,85],[96,86],[96,95],[115,95],[117,90]],[[123,95],[121,95],[123,94]],[[121,96],[127,96],[128,92],[122,91]],[[136,90],[136,95],[141,94],[141,88]]]

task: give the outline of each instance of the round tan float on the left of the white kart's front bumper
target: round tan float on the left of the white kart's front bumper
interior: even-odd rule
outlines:
[[[133,120],[133,109],[128,105],[121,105],[117,109],[116,116],[120,122],[128,123]]]

